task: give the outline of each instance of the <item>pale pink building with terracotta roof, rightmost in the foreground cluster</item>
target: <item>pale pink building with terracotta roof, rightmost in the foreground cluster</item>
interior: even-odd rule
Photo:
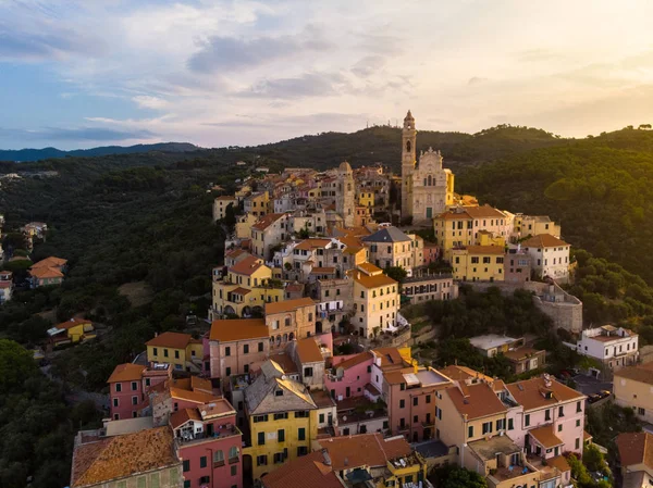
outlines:
[[[566,451],[582,454],[586,396],[551,376],[539,376],[506,386],[506,434],[527,453],[554,458]]]

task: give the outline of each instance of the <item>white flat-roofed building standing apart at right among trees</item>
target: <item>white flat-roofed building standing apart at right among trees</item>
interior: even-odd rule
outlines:
[[[574,347],[574,345],[568,346]],[[577,341],[576,351],[601,362],[604,371],[609,372],[637,362],[639,336],[632,330],[612,325],[588,328],[582,331]],[[599,374],[597,371],[593,373]]]

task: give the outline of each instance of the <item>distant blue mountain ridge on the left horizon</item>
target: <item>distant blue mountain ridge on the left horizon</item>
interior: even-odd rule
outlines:
[[[153,145],[136,145],[136,146],[102,146],[91,149],[74,149],[72,151],[62,151],[57,148],[44,149],[19,149],[19,150],[1,150],[0,161],[13,161],[24,163],[27,161],[41,161],[52,158],[65,157],[96,157],[110,154],[133,154],[138,152],[163,151],[163,152],[189,152],[198,151],[201,148],[189,142],[159,142]]]

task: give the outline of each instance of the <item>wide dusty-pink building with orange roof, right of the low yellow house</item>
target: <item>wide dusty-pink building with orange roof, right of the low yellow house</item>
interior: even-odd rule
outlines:
[[[270,354],[269,335],[263,318],[213,321],[208,341],[211,378],[224,383],[266,361]]]

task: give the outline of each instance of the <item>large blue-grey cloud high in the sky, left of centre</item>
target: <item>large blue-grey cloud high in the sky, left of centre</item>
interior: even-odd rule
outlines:
[[[319,29],[310,34],[244,39],[213,36],[200,42],[188,67],[198,73],[229,72],[258,66],[303,51],[325,51],[331,43]]]

